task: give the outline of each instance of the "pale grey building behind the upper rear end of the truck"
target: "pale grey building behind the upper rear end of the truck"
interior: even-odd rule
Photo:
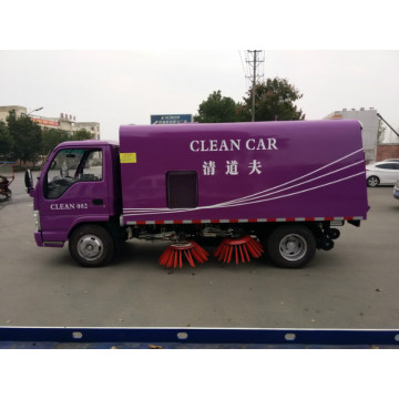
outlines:
[[[347,110],[335,111],[327,115],[327,120],[358,120],[362,125],[361,139],[365,150],[366,162],[372,162],[377,155],[378,143],[378,127],[380,119],[377,116],[377,110],[370,108],[368,110],[361,108],[360,110]]]

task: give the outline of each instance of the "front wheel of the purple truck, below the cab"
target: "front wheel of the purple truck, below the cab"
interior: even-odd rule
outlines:
[[[78,227],[69,241],[71,256],[83,267],[108,265],[114,257],[114,242],[106,228],[88,224]]]

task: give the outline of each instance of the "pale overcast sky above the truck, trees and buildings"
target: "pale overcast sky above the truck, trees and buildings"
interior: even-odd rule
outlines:
[[[43,106],[42,116],[100,122],[103,139],[151,114],[196,114],[216,90],[241,101],[248,90],[244,50],[0,51],[0,105]],[[399,51],[265,51],[265,78],[303,94],[306,119],[375,108],[399,126]]]

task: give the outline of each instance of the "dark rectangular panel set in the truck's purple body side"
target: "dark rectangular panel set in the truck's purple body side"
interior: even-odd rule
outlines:
[[[198,174],[195,171],[166,173],[166,198],[170,208],[198,206]]]

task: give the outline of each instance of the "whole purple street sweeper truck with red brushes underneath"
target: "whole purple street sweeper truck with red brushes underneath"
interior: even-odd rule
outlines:
[[[221,262],[298,268],[369,209],[355,120],[122,125],[119,144],[59,144],[25,184],[38,246],[69,242],[86,267],[139,238],[171,242],[166,267],[207,260],[208,241]]]

